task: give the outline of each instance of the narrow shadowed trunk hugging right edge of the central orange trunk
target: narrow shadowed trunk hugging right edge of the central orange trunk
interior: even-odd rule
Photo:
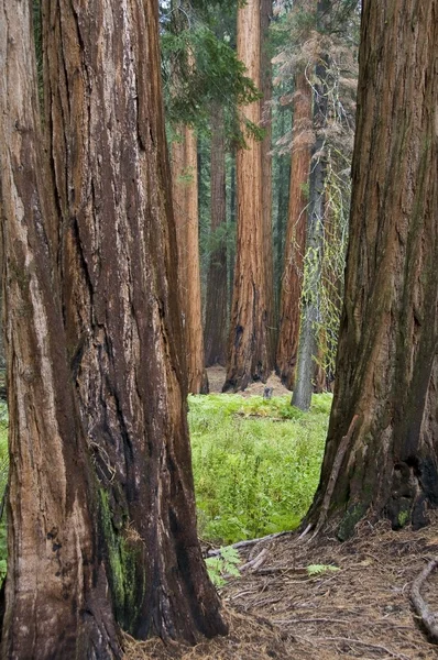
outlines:
[[[267,339],[270,364],[275,361],[276,321],[274,298],[274,256],[272,241],[272,64],[269,50],[269,30],[272,18],[273,0],[260,0],[260,112],[265,135],[261,145],[262,158],[262,213],[264,226],[265,295],[267,310]]]

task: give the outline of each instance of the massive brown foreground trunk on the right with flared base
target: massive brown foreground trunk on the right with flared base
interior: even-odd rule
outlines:
[[[365,515],[420,526],[438,504],[438,0],[362,8],[337,384],[309,513],[342,538]]]

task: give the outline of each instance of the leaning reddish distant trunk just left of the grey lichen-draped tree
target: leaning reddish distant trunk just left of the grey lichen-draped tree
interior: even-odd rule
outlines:
[[[306,250],[311,144],[311,88],[304,73],[295,76],[294,145],[291,161],[289,209],[280,301],[276,371],[293,389],[299,341],[300,299]]]

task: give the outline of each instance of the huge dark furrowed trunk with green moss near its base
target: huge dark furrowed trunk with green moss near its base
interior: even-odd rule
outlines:
[[[120,625],[225,632],[196,535],[157,3],[44,6],[67,348]]]

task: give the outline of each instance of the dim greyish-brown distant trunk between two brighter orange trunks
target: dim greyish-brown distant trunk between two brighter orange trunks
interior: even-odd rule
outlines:
[[[215,106],[211,112],[211,233],[227,222],[226,134],[223,110]],[[209,258],[207,274],[206,326],[204,343],[206,365],[226,365],[227,355],[227,244],[221,237]]]

